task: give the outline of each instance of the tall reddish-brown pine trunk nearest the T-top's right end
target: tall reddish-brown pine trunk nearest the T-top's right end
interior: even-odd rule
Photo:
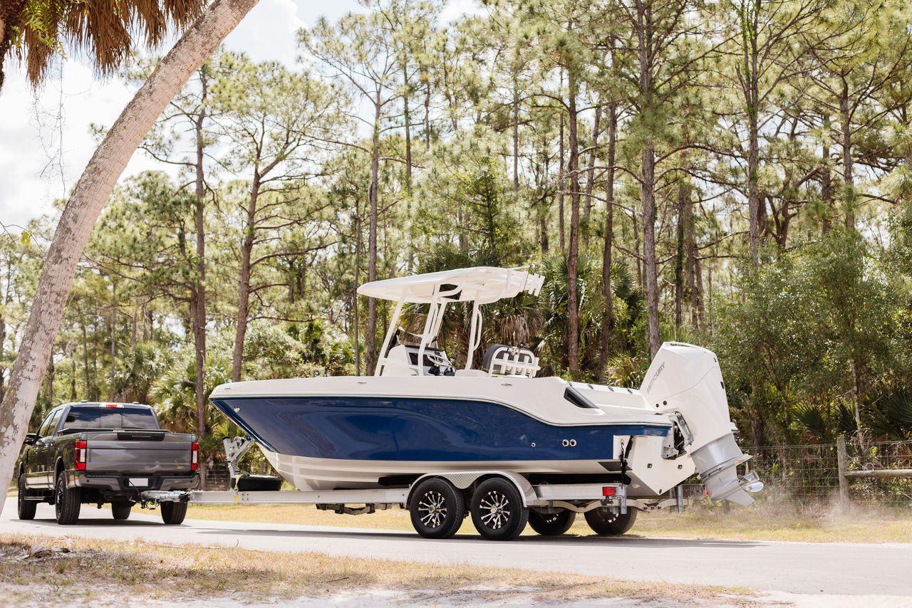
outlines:
[[[579,371],[579,294],[576,282],[579,263],[579,141],[576,138],[576,74],[567,70],[567,183],[570,187],[570,250],[567,253],[567,362],[572,375]]]

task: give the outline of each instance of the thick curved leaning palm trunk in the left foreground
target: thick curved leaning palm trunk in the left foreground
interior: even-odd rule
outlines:
[[[76,266],[98,214],[161,111],[257,2],[215,0],[130,100],[79,178],[57,223],[9,387],[0,405],[0,486],[8,487],[12,479]],[[5,499],[5,493],[0,495],[0,509]]]

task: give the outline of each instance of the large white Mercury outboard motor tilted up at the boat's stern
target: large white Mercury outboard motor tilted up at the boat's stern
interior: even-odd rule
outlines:
[[[751,457],[741,452],[731,433],[715,354],[700,346],[666,342],[652,360],[640,392],[654,411],[676,420],[711,500],[753,502],[744,490],[756,492],[763,484],[756,473],[738,475],[737,466]]]

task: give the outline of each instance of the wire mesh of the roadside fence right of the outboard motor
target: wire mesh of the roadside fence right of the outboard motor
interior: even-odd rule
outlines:
[[[759,502],[792,505],[795,510],[833,509],[839,504],[836,444],[749,448],[747,467],[765,486]],[[912,441],[846,442],[846,469],[912,469]],[[865,508],[912,510],[912,479],[847,479],[852,504]]]

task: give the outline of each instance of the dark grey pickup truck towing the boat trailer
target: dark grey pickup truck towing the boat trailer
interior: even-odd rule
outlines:
[[[16,461],[19,519],[38,502],[54,505],[59,524],[76,523],[82,504],[110,503],[126,520],[148,490],[189,490],[199,482],[193,435],[161,429],[155,411],[137,403],[66,403],[28,433]],[[161,502],[161,519],[179,524],[187,502]]]

